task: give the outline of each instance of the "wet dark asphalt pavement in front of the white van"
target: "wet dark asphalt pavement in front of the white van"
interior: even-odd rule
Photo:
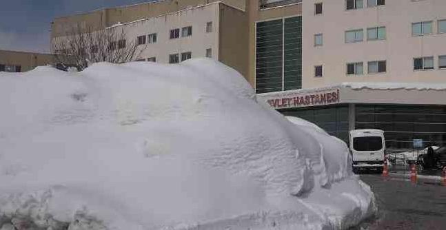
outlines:
[[[446,229],[446,186],[441,180],[362,174],[375,193],[378,214],[358,230]]]

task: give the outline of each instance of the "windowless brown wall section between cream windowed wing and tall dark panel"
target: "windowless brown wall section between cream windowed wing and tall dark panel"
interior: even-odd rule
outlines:
[[[247,15],[220,4],[219,61],[239,71],[245,79],[248,72]]]

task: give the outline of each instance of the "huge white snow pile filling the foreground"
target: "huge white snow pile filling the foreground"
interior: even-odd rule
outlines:
[[[345,229],[345,144],[211,59],[0,73],[4,229]]]

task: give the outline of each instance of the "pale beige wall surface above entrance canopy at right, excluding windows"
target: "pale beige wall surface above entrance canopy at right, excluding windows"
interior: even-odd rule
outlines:
[[[314,3],[323,14],[314,15]],[[364,1],[366,4],[367,1]],[[385,6],[345,10],[345,1],[303,1],[303,87],[341,82],[444,83],[446,70],[438,70],[438,55],[446,55],[446,34],[437,33],[446,19],[446,1],[385,1]],[[412,23],[434,21],[434,34],[412,36]],[[367,41],[367,28],[385,26],[387,38]],[[345,31],[364,30],[364,41],[345,43]],[[323,34],[323,46],[314,47],[314,34]],[[414,71],[413,59],[434,56],[435,70]],[[367,61],[387,61],[387,72],[367,74]],[[346,64],[364,63],[363,75],[347,76]],[[323,77],[314,78],[314,66],[323,65]]]

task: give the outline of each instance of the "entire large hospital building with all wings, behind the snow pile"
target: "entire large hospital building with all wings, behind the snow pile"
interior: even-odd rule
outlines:
[[[389,148],[446,144],[443,0],[166,0],[55,19],[53,39],[70,24],[123,28],[137,61],[210,56],[345,141],[378,128]]]

